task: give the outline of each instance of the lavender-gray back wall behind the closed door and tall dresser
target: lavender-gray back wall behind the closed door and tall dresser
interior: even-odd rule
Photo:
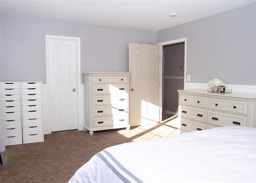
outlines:
[[[81,38],[84,72],[128,72],[128,43],[157,44],[154,31],[1,16],[0,81],[46,83],[45,35]]]

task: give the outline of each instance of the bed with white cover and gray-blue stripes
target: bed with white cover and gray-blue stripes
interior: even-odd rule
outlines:
[[[108,147],[69,183],[256,183],[256,128],[218,127]]]

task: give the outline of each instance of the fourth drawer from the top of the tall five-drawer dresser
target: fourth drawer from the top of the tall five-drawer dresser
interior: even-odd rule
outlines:
[[[94,116],[126,114],[128,113],[127,105],[93,107]]]

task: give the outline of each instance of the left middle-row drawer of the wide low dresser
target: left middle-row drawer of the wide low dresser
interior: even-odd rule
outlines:
[[[180,116],[206,123],[207,111],[204,109],[180,106]]]

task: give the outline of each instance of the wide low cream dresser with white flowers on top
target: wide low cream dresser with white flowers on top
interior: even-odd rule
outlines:
[[[221,126],[256,127],[256,95],[178,90],[180,132]]]

